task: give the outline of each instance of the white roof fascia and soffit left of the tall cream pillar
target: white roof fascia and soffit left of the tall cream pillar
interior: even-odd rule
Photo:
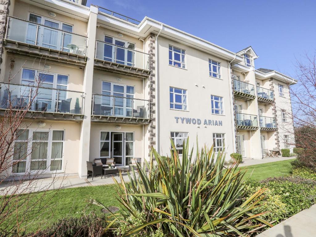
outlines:
[[[24,1],[29,3],[29,1]],[[51,10],[55,13],[59,13],[62,15],[67,15],[72,18],[79,19],[81,21],[88,21],[90,8],[73,3],[67,0],[33,0],[32,3],[35,6],[39,6],[40,8]]]

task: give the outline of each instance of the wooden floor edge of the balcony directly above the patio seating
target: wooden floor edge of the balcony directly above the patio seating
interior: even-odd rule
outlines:
[[[91,122],[99,122],[99,123],[148,125],[150,124],[150,120],[151,119],[91,115]]]

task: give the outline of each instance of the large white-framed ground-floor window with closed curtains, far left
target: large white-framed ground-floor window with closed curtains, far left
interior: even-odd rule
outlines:
[[[62,170],[63,130],[19,130],[15,137],[12,173]]]

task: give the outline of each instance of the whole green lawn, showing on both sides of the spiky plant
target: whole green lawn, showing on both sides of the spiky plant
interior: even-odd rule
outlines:
[[[252,165],[241,167],[246,169],[245,179],[250,177],[251,179],[266,179],[269,177],[277,177],[282,175],[291,174],[292,160],[276,161],[266,164]],[[253,172],[252,172],[253,171]],[[88,214],[94,211],[97,215],[101,215],[101,208],[96,205],[90,205],[86,202],[86,199],[93,197],[105,206],[117,206],[122,210],[122,206],[115,198],[117,196],[114,185],[102,185],[102,186],[88,186],[78,188],[68,188],[56,191],[48,191],[44,196],[42,203],[48,203],[50,208],[40,210],[41,215],[31,216],[23,225],[27,225],[27,232],[43,229],[50,226],[52,223],[58,221],[58,219],[64,217],[79,217],[84,214]],[[34,193],[32,195],[33,200],[41,197],[41,192]],[[32,200],[31,200],[32,203]],[[39,207],[36,207],[39,208]],[[9,225],[14,225],[14,220],[7,220]]]

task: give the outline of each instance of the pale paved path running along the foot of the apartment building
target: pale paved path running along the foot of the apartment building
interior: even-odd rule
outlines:
[[[295,157],[280,156],[275,158],[265,157],[263,159],[245,159],[244,162],[241,163],[239,166],[242,167],[249,165],[258,165],[275,161],[284,161],[294,158]],[[129,181],[127,173],[122,173],[122,175],[125,181]],[[119,175],[113,177],[120,182]],[[11,193],[15,193],[15,190],[18,190],[18,193],[27,193],[60,188],[64,189],[107,184],[114,184],[111,174],[107,175],[106,178],[101,179],[101,177],[98,176],[93,180],[92,178],[80,179],[78,175],[64,175],[62,177],[37,179],[31,184],[28,181],[25,181],[22,184],[19,184],[17,182],[3,182],[0,184],[0,195],[8,195]]]

